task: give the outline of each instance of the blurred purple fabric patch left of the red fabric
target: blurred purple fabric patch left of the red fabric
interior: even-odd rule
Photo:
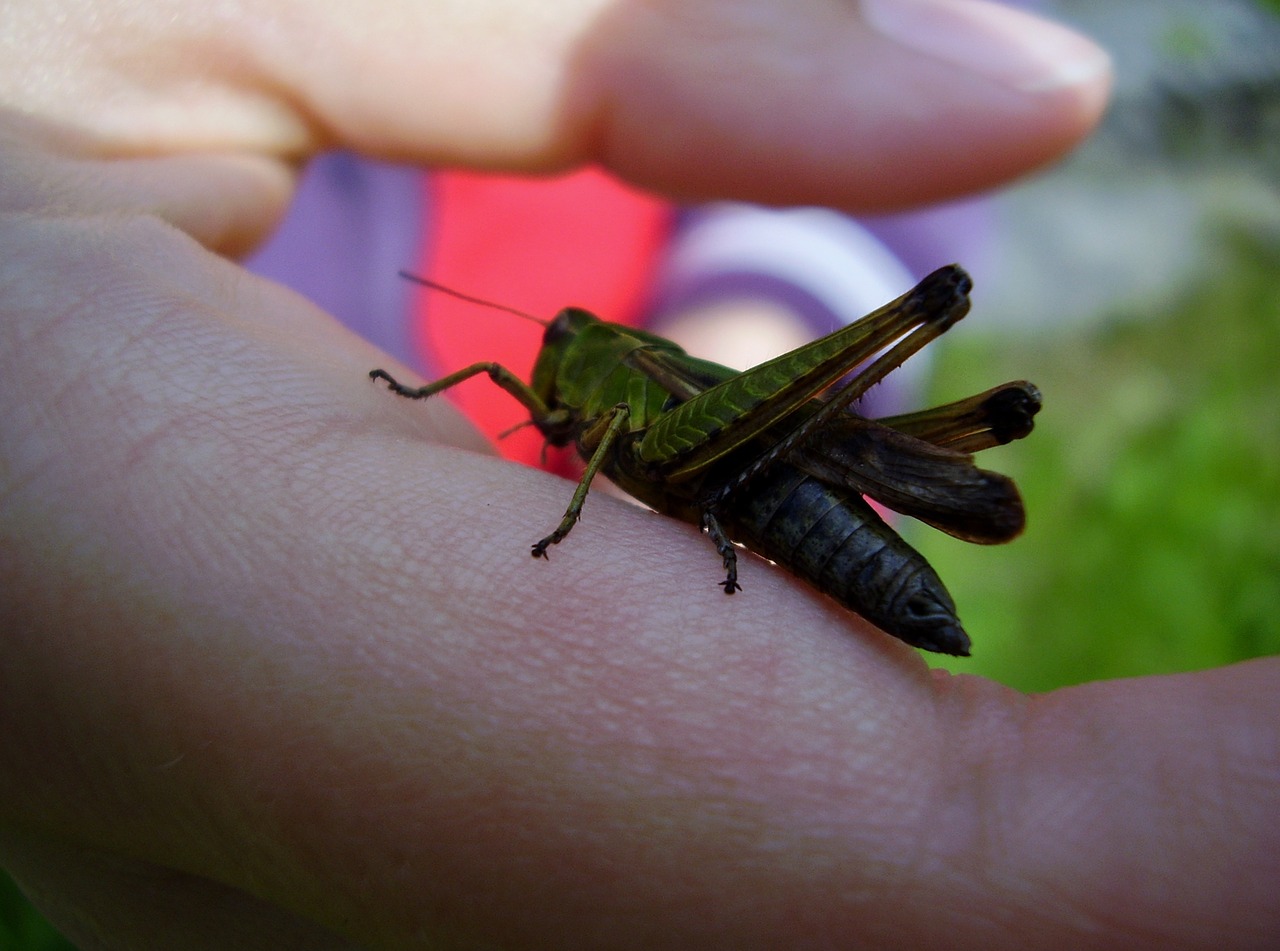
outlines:
[[[311,161],[275,234],[246,262],[410,366],[412,285],[422,260],[421,169],[330,152]]]

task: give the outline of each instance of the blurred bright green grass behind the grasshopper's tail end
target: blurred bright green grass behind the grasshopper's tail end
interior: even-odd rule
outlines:
[[[1037,430],[983,453],[1028,508],[975,549],[910,526],[974,636],[945,663],[1023,690],[1280,653],[1280,244],[1221,242],[1167,312],[947,340],[934,396],[1027,378]]]

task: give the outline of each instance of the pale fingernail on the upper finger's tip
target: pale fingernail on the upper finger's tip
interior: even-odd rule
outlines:
[[[1020,92],[1050,92],[1110,72],[1092,41],[1056,23],[987,0],[863,0],[879,33]]]

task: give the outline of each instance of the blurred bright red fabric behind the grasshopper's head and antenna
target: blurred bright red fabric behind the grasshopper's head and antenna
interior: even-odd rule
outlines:
[[[635,323],[672,221],[667,202],[596,169],[554,179],[442,172],[431,178],[430,237],[420,273],[474,297],[549,319],[564,306]],[[494,360],[527,380],[543,328],[424,288],[413,315],[424,365],[439,374]],[[479,376],[449,396],[490,438],[527,420]],[[543,440],[525,428],[499,443],[536,465]]]

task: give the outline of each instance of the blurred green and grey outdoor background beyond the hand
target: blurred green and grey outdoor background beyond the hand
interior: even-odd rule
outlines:
[[[1280,0],[1062,0],[1116,60],[1102,132],[996,200],[1004,275],[938,344],[934,402],[1001,380],[1037,430],[983,453],[1011,545],[905,531],[974,657],[1024,690],[1280,651]],[[0,951],[63,951],[0,873]]]

